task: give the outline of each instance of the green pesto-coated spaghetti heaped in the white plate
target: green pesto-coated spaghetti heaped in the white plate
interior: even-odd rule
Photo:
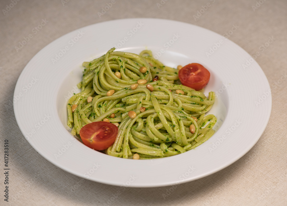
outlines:
[[[214,134],[216,117],[205,116],[215,101],[214,92],[206,97],[200,91],[174,84],[179,79],[178,70],[164,66],[149,50],[139,55],[114,50],[83,63],[83,78],[78,84],[82,92],[67,103],[67,124],[73,135],[78,135],[86,124],[108,118],[110,123],[119,124],[119,131],[106,154],[132,158],[138,153],[140,159],[150,159],[183,153]],[[146,67],[144,73],[141,67]],[[147,80],[145,84],[131,88],[143,79]],[[148,89],[147,84],[153,89]],[[107,96],[110,90],[115,92]],[[90,96],[92,101],[87,101]],[[73,105],[77,106],[74,112]],[[129,111],[136,116],[131,118]],[[109,118],[111,114],[115,114],[113,118]]]

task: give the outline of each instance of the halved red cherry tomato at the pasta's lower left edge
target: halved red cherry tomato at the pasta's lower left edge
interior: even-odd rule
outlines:
[[[82,127],[80,137],[84,145],[95,150],[104,150],[115,142],[118,130],[118,127],[113,123],[92,122]]]

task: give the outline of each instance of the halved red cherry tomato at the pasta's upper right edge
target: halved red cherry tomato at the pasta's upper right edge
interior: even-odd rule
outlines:
[[[179,70],[179,80],[181,83],[195,90],[204,88],[209,78],[209,71],[198,63],[188,64]]]

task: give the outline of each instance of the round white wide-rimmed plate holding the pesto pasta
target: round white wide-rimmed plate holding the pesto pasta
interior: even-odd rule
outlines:
[[[77,141],[66,129],[66,100],[77,92],[73,87],[81,81],[82,62],[115,45],[133,53],[150,49],[172,67],[197,62],[208,68],[211,79],[205,94],[218,94],[209,112],[217,116],[216,133],[191,151],[155,160],[115,158]],[[263,71],[252,60],[230,40],[191,24],[144,18],[103,22],[58,38],[32,58],[16,84],[14,112],[36,151],[67,172],[119,186],[188,182],[229,166],[262,135],[271,93]]]

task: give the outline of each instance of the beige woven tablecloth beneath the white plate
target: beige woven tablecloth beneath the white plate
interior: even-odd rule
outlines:
[[[111,4],[108,11],[102,11]],[[0,205],[287,205],[286,0],[5,0],[0,9]],[[26,141],[16,123],[12,102],[16,81],[30,59],[68,32],[135,17],[195,24],[228,35],[257,56],[271,86],[272,113],[259,141],[237,162],[176,188],[123,190],[61,170]],[[236,30],[229,32],[234,26]],[[20,48],[18,42],[25,38],[29,41]],[[274,41],[262,49],[269,38]],[[4,139],[9,140],[10,149],[9,202],[4,201]],[[170,195],[164,198],[163,194]]]

